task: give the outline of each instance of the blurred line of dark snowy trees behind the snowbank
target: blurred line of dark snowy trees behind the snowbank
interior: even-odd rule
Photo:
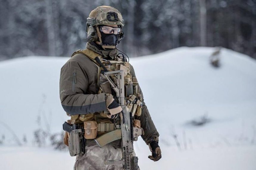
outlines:
[[[0,60],[84,49],[86,18],[101,5],[122,13],[118,48],[131,57],[223,46],[256,58],[256,0],[0,0]]]

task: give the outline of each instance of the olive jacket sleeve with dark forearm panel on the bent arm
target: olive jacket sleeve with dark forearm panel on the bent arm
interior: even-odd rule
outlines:
[[[70,115],[106,110],[105,93],[86,94],[89,86],[88,73],[81,64],[69,60],[61,68],[60,101],[63,109]]]

